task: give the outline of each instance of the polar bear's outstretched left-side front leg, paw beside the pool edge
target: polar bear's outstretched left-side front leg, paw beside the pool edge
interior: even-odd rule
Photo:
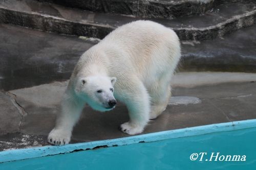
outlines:
[[[84,103],[65,96],[61,105],[61,112],[57,116],[55,128],[49,133],[48,142],[55,145],[68,144],[71,139],[72,130],[77,123]]]

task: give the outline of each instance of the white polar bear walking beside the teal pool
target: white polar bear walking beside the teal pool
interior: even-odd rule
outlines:
[[[48,141],[69,143],[84,104],[109,111],[115,99],[130,116],[121,131],[141,133],[150,118],[165,110],[180,56],[178,36],[159,23],[139,20],[117,28],[80,57]]]

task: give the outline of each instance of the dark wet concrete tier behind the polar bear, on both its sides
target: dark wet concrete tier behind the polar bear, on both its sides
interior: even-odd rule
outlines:
[[[4,90],[68,80],[82,53],[97,43],[6,24],[0,24],[0,40]],[[256,72],[255,46],[256,26],[215,40],[181,41],[178,70]]]

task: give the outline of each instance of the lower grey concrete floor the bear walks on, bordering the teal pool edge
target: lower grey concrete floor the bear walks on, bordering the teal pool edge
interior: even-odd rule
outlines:
[[[211,78],[211,81],[203,81],[204,77]],[[198,81],[193,81],[195,79]],[[54,82],[2,92],[0,105],[4,110],[0,112],[0,150],[47,145],[47,135],[54,127],[67,83]],[[255,83],[256,74],[177,74],[173,82],[173,98],[166,111],[152,120],[143,134],[254,119]],[[118,126],[127,120],[127,110],[120,103],[113,111],[104,113],[87,106],[74,129],[72,143],[129,136],[118,130]]]

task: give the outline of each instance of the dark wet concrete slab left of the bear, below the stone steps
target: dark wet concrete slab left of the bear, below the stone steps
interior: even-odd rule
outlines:
[[[0,24],[0,89],[69,79],[94,41]]]

